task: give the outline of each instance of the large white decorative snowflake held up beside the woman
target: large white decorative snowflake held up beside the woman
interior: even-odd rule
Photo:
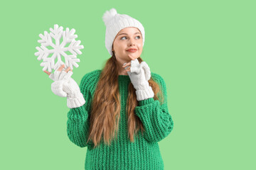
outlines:
[[[49,72],[52,72],[52,69],[57,69],[60,67],[60,65],[64,64],[64,62],[61,60],[61,55],[65,58],[65,68],[70,67],[73,69],[73,66],[78,68],[77,62],[80,62],[80,60],[77,58],[76,55],[81,55],[82,52],[80,52],[80,49],[83,49],[83,45],[80,45],[80,40],[75,40],[75,38],[78,38],[78,35],[74,35],[75,29],[69,30],[69,28],[66,28],[66,30],[63,31],[62,26],[58,26],[58,24],[54,25],[54,29],[50,28],[50,34],[47,31],[44,31],[43,34],[39,34],[39,37],[41,40],[38,40],[39,43],[41,43],[41,47],[36,47],[36,50],[38,52],[35,52],[35,55],[38,56],[38,60],[43,60],[43,62],[40,64],[43,67],[43,71],[48,69]],[[60,43],[60,38],[63,38],[63,42]],[[55,44],[53,43],[53,39],[55,39]],[[70,45],[68,47],[65,47],[67,43],[70,42]],[[50,46],[53,49],[48,49],[47,47]],[[67,55],[66,52],[69,51],[73,55]],[[48,57],[48,55],[52,54],[51,57]],[[77,54],[78,53],[78,54]],[[55,63],[55,59],[58,57],[57,62]]]

